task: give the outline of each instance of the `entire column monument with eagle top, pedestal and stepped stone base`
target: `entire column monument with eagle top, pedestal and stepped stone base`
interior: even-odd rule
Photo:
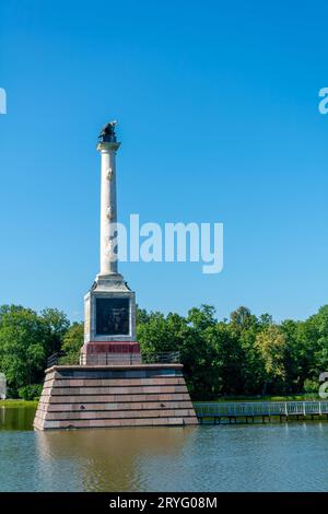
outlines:
[[[102,156],[101,271],[84,299],[80,365],[46,370],[34,427],[185,425],[197,418],[183,365],[142,364],[136,340],[136,297],[117,266],[115,121],[99,135]],[[167,362],[167,360],[165,361]],[[169,361],[168,361],[169,362]]]

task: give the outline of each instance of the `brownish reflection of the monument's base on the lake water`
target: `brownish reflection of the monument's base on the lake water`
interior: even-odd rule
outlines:
[[[49,490],[54,475],[58,479],[58,466],[70,476],[62,490],[143,490],[151,463],[156,463],[157,475],[169,472],[167,462],[192,446],[196,432],[197,428],[36,432],[39,476]]]

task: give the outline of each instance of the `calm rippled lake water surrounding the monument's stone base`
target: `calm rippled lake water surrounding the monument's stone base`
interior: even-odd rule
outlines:
[[[33,432],[0,408],[0,491],[328,491],[328,423]]]

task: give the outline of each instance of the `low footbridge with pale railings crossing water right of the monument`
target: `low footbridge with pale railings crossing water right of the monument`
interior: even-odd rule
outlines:
[[[247,401],[196,402],[196,416],[200,423],[262,423],[272,418],[280,422],[302,419],[327,419],[328,401]]]

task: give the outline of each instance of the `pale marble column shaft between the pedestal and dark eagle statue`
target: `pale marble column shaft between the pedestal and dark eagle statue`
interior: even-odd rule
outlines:
[[[101,200],[101,276],[118,272],[113,225],[117,223],[116,201],[116,151],[118,142],[101,142],[97,150],[102,157],[102,200]]]

